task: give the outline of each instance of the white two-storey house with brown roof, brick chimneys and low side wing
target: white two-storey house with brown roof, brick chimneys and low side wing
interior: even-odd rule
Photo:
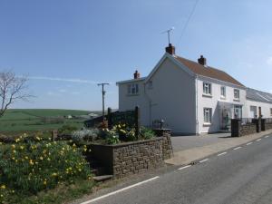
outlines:
[[[272,98],[266,105],[247,100],[243,84],[208,66],[202,55],[198,63],[176,55],[171,44],[147,77],[136,71],[133,79],[117,85],[120,111],[139,105],[141,124],[163,119],[180,134],[228,131],[231,118],[249,117],[248,107],[272,108]]]

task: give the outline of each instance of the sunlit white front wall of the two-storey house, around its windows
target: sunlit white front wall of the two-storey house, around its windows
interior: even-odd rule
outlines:
[[[209,68],[208,68],[209,69]],[[218,80],[210,79],[208,77],[200,76],[197,80],[198,84],[198,119],[199,119],[199,133],[215,132],[220,130],[220,113],[219,113],[219,101],[230,102],[233,104],[242,105],[243,117],[246,113],[246,90],[235,86],[231,83],[224,83]],[[211,83],[211,97],[203,95],[203,82]],[[220,87],[226,86],[226,98],[222,99],[220,96]],[[234,89],[240,90],[240,100],[235,101]],[[211,124],[204,123],[204,108],[212,109]],[[233,117],[233,115],[231,116]]]

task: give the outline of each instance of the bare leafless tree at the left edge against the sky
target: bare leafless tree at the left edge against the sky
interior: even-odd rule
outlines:
[[[18,77],[11,71],[0,72],[0,118],[12,103],[32,97],[27,93],[27,81],[27,77]]]

